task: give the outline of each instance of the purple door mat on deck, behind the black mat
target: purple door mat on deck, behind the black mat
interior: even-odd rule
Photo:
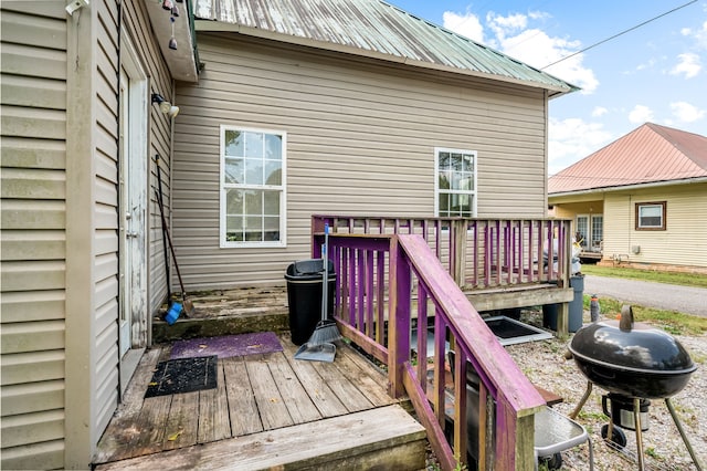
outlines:
[[[191,338],[172,345],[170,358],[191,358],[218,355],[219,358],[282,352],[283,346],[274,332]]]

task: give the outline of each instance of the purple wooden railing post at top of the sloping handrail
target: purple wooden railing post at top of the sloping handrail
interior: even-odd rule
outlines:
[[[405,394],[402,383],[404,363],[410,356],[411,270],[400,250],[398,236],[390,239],[390,314],[388,318],[389,394]]]

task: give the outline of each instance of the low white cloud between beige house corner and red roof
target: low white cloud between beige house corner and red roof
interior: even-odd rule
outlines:
[[[601,123],[580,118],[550,118],[548,130],[548,171],[555,175],[599,150],[612,139]]]

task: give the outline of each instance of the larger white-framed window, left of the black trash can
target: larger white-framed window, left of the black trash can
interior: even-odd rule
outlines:
[[[221,126],[221,247],[285,247],[282,132]]]

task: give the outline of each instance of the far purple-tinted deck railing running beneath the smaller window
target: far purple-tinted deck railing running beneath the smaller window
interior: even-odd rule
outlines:
[[[524,283],[569,287],[569,219],[314,216],[313,233],[420,234],[464,290]],[[550,263],[550,261],[553,261]]]

